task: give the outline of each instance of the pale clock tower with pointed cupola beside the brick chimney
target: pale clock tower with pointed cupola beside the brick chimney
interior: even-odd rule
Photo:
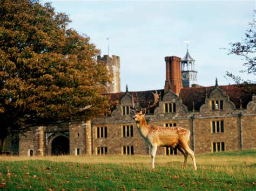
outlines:
[[[194,68],[194,59],[187,53],[181,60],[181,80],[184,88],[197,86],[197,71]]]

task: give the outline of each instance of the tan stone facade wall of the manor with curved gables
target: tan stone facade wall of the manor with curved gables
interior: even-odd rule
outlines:
[[[212,109],[212,101],[216,100],[223,102],[223,109]],[[165,104],[170,103],[176,104],[175,112],[165,111]],[[31,128],[19,137],[19,154],[30,155],[32,152],[33,155],[51,155],[52,142],[59,136],[69,139],[69,150],[72,155],[127,154],[127,151],[124,153],[124,147],[129,147],[130,153],[133,150],[133,154],[150,154],[149,146],[137,132],[136,123],[130,112],[125,115],[122,112],[123,107],[130,107],[131,104],[132,96],[126,92],[111,116],[87,122]],[[154,109],[154,114],[147,114],[145,117],[151,125],[165,126],[166,123],[175,123],[190,130],[190,147],[196,153],[213,152],[214,143],[224,143],[225,151],[233,151],[256,148],[255,108],[256,97],[253,96],[247,109],[235,109],[228,96],[216,86],[209,97],[205,98],[205,104],[201,105],[200,111],[191,112],[169,89]],[[213,121],[223,121],[224,132],[213,132]],[[133,136],[124,136],[123,126],[133,126]],[[159,147],[157,154],[166,154],[165,148]]]

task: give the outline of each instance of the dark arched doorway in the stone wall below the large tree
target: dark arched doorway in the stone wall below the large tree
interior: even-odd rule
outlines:
[[[58,136],[52,140],[51,143],[52,155],[69,154],[69,138],[65,136]]]

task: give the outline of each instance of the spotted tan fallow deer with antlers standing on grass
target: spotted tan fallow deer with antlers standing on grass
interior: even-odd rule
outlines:
[[[179,126],[175,127],[161,127],[156,125],[147,125],[145,114],[146,111],[152,108],[159,101],[159,95],[152,93],[154,96],[154,103],[148,105],[147,108],[142,108],[137,110],[134,107],[134,102],[132,103],[131,111],[133,114],[133,119],[136,122],[136,128],[139,135],[143,137],[145,142],[151,147],[151,166],[154,168],[154,158],[156,157],[157,147],[176,147],[184,155],[183,168],[186,168],[187,156],[191,156],[193,160],[194,170],[197,170],[196,158],[194,157],[194,152],[188,146],[190,141],[190,130],[181,128]]]

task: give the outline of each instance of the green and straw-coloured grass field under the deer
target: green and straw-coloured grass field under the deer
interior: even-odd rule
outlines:
[[[256,189],[256,150],[196,155],[182,169],[183,156],[107,155],[0,157],[0,190]]]

